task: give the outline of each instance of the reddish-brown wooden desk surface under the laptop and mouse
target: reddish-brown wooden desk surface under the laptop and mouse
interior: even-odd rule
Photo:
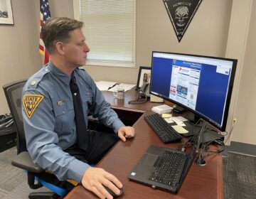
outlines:
[[[222,157],[220,154],[213,154],[206,158],[206,166],[198,166],[193,163],[188,175],[186,176],[178,194],[172,194],[163,190],[153,189],[147,185],[142,185],[134,181],[129,181],[127,176],[132,168],[144,154],[149,145],[176,148],[181,142],[163,144],[154,131],[144,121],[143,116],[150,114],[146,112],[145,107],[151,107],[151,103],[147,102],[144,106],[129,107],[126,102],[111,102],[110,95],[104,95],[114,109],[123,109],[124,112],[132,110],[143,113],[139,117],[133,127],[136,131],[134,139],[128,139],[126,142],[119,141],[117,144],[97,163],[97,167],[104,168],[106,171],[117,176],[124,185],[124,193],[121,198],[223,198],[223,171]],[[117,104],[115,104],[117,103]],[[129,104],[134,106],[134,104]],[[152,106],[154,106],[153,104]],[[126,107],[127,106],[127,107]],[[135,105],[137,106],[137,104]],[[139,109],[142,107],[142,109]],[[214,147],[214,146],[213,146]],[[78,185],[66,195],[65,199],[76,198],[97,198],[96,195],[87,191],[82,185]]]

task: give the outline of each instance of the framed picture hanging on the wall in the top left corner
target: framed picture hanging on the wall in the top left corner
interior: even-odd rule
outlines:
[[[0,24],[14,25],[11,0],[0,0]]]

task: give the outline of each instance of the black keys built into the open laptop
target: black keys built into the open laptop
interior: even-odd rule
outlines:
[[[149,181],[174,187],[178,173],[180,169],[183,168],[181,166],[185,160],[186,154],[166,150],[164,155],[161,156],[161,159],[156,161],[156,168],[149,176]]]

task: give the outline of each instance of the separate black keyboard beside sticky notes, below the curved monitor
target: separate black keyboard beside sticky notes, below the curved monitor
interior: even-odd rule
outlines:
[[[149,126],[154,129],[156,134],[164,143],[176,141],[182,138],[182,136],[178,134],[178,132],[173,127],[171,127],[171,125],[169,125],[168,122],[166,122],[160,114],[149,114],[145,116],[144,119],[149,124]]]

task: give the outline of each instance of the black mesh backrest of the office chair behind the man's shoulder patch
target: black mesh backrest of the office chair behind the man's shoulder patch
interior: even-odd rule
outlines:
[[[17,128],[17,153],[22,151],[27,151],[26,149],[26,138],[23,127],[22,118],[22,102],[21,95],[24,85],[27,80],[18,80],[16,82],[11,82],[3,86],[4,94],[6,95],[6,100],[14,119],[14,124]]]

